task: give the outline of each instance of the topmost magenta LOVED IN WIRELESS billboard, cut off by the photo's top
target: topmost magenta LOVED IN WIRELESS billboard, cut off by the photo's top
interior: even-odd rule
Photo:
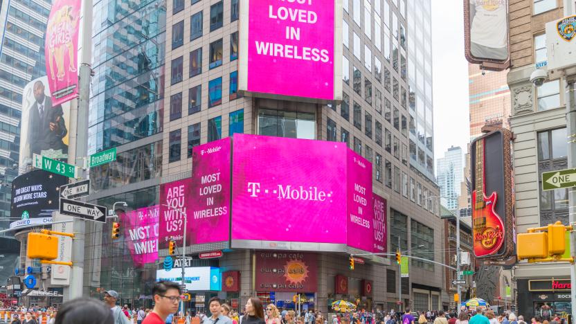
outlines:
[[[335,100],[341,93],[341,2],[240,1],[240,90]],[[337,23],[336,23],[337,22]]]

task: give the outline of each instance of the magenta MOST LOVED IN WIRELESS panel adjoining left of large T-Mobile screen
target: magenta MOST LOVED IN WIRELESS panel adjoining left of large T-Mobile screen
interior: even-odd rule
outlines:
[[[192,148],[189,244],[228,241],[230,228],[231,139]]]

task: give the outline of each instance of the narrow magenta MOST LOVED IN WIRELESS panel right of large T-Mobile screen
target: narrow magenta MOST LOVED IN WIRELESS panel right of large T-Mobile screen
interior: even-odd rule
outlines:
[[[375,240],[372,229],[372,163],[348,150],[348,245],[372,252]]]

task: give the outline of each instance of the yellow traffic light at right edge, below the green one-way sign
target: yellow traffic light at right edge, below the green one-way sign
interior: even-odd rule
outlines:
[[[566,231],[572,226],[564,226],[560,221],[538,228],[528,228],[528,233],[519,233],[516,255],[519,260],[570,261],[563,258],[566,251]],[[566,260],[565,260],[566,259]]]

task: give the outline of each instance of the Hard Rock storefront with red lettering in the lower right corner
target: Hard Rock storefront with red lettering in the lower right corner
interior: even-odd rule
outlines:
[[[525,319],[541,316],[550,321],[554,316],[570,314],[569,278],[518,280],[517,284],[519,314]]]

